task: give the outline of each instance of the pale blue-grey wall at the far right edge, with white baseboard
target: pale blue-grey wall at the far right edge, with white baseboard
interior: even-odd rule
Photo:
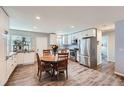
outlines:
[[[116,23],[115,72],[124,76],[124,20]]]

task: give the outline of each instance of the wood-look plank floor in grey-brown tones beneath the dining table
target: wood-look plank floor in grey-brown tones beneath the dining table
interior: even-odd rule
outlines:
[[[46,73],[38,81],[37,65],[19,66],[12,73],[6,86],[118,86],[124,85],[124,78],[114,74],[114,63],[103,64],[97,70],[89,69],[76,62],[69,62],[69,77],[64,79],[61,73],[60,80],[53,80]]]

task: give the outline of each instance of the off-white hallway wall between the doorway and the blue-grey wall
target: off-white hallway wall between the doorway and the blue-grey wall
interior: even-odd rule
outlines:
[[[115,62],[115,31],[103,32],[103,36],[108,36],[108,61]]]

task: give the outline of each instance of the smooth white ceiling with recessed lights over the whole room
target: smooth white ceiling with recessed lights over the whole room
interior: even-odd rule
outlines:
[[[45,33],[70,33],[90,27],[112,29],[116,21],[124,19],[121,6],[5,6],[4,9],[10,16],[11,29]]]

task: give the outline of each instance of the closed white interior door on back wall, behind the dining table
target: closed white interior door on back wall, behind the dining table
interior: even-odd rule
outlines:
[[[48,48],[48,38],[47,37],[37,37],[36,38],[36,50],[39,54],[43,54],[43,50]]]

